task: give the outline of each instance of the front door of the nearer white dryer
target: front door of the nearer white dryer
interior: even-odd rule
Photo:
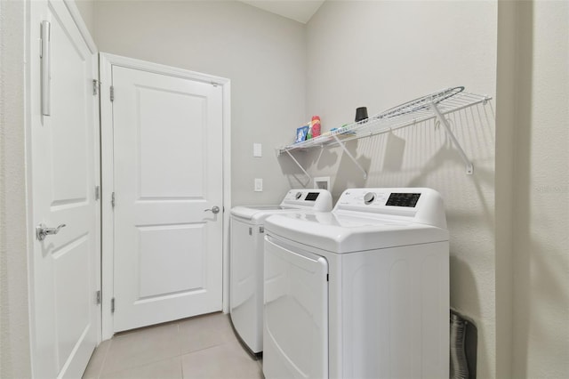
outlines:
[[[263,373],[328,377],[328,262],[265,238]]]

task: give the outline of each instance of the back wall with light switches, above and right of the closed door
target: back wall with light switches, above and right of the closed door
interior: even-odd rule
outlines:
[[[94,39],[101,52],[231,80],[233,205],[276,203],[290,186],[275,147],[304,122],[304,25],[225,1],[101,1]],[[252,143],[263,157],[252,157]],[[282,171],[283,170],[283,171]],[[253,192],[253,179],[264,191]]]

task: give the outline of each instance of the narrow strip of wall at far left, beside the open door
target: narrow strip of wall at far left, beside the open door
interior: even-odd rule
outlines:
[[[25,2],[0,1],[0,377],[31,376],[28,320]]]

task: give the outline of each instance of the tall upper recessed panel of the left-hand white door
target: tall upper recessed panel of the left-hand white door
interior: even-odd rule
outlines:
[[[56,16],[56,15],[55,15]],[[84,49],[77,46],[61,24],[52,20],[52,206],[84,206],[88,175],[92,175],[92,74]],[[90,91],[91,90],[91,91]],[[90,139],[88,139],[88,136]],[[72,143],[70,143],[72,141]],[[91,158],[91,161],[90,161]],[[92,178],[90,178],[92,181]]]

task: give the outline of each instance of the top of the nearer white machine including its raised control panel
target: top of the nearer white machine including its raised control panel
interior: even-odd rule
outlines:
[[[445,206],[434,189],[346,189],[332,213],[276,214],[268,235],[343,254],[448,241]]]

